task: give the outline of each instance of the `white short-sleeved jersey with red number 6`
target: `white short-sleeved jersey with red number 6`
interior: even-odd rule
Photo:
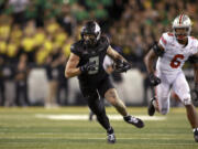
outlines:
[[[165,53],[158,57],[156,70],[163,73],[174,73],[182,70],[185,61],[198,52],[198,40],[188,36],[186,46],[179,44],[173,33],[163,33],[160,44],[164,47]]]

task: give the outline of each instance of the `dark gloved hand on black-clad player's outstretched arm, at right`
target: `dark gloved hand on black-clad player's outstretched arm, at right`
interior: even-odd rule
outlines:
[[[114,72],[116,73],[123,73],[129,71],[132,67],[132,65],[129,62],[122,61],[122,60],[118,60],[114,63]]]

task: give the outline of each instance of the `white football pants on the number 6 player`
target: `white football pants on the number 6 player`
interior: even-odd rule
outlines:
[[[161,114],[166,115],[169,111],[170,89],[184,105],[191,104],[189,85],[183,71],[169,74],[156,71],[156,76],[161,78],[161,84],[155,87],[156,104]]]

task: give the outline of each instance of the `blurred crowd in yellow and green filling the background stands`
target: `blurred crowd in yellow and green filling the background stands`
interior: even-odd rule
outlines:
[[[7,81],[15,84],[13,105],[31,105],[26,79],[34,67],[46,70],[45,106],[67,105],[67,96],[59,99],[59,91],[67,95],[69,88],[64,68],[70,44],[80,39],[87,20],[99,22],[111,45],[142,72],[145,94],[150,84],[143,56],[163,32],[170,31],[179,13],[191,18],[191,34],[197,38],[197,4],[198,0],[0,0],[0,105],[6,103]]]

